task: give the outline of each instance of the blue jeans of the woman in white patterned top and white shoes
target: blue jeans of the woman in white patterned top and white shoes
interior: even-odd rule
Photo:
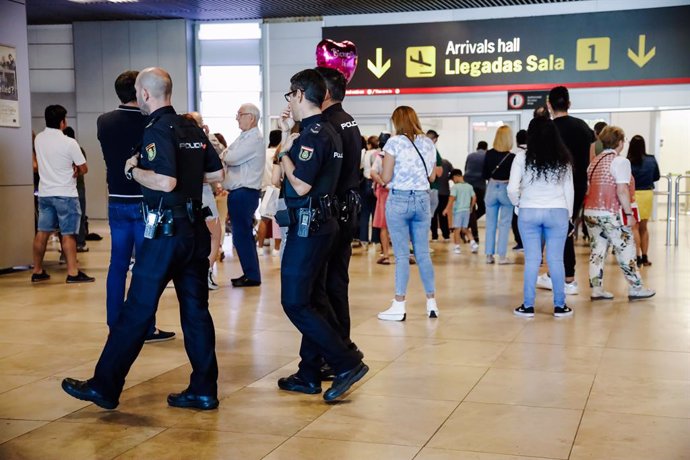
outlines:
[[[434,267],[429,253],[428,190],[391,190],[386,221],[395,254],[395,295],[404,296],[410,279],[410,241],[427,294],[434,293]]]

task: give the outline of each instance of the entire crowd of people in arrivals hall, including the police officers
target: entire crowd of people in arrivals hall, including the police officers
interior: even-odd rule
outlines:
[[[448,241],[451,231],[454,255],[464,243],[478,253],[481,241],[487,264],[507,265],[513,263],[508,257],[513,227],[525,259],[518,316],[535,315],[537,287],[553,290],[554,316],[573,314],[566,296],[579,292],[573,235],[580,222],[591,246],[592,300],[613,298],[603,286],[609,248],[629,284],[628,298],[654,295],[643,285],[639,267],[651,265],[646,222],[659,171],[640,136],[631,140],[628,158],[621,156],[623,130],[599,124],[593,132],[568,115],[569,93],[560,86],[551,90],[548,110],[535,111],[515,144],[510,127],[501,126],[492,148],[479,142],[463,172],[441,157],[438,132],[424,132],[412,107],[393,111],[391,133],[364,139],[342,107],[345,89],[345,78],[333,69],[295,74],[279,129],[270,133],[266,147],[253,104],[238,108],[241,134],[228,144],[210,132],[201,114],[175,112],[165,70],[118,76],[115,91],[122,105],[97,122],[109,192],[110,333],[94,376],[63,381],[68,394],[117,407],[143,345],[175,336],[155,325],[158,301],[172,281],[193,372],[189,386],[169,395],[168,404],[218,406],[208,305],[209,290],[219,287],[214,264],[223,257],[226,215],[241,268],[231,279],[234,288],[260,286],[259,250],[271,235],[281,241],[269,254],[281,253],[281,304],[302,340],[297,371],[277,385],[318,394],[321,382],[331,380],[323,394],[327,402],[342,397],[369,369],[350,336],[348,272],[352,248],[370,241],[381,244],[378,264],[395,263],[394,298],[378,313],[382,321],[406,319],[412,264],[426,294],[426,316],[439,318],[430,242]],[[77,142],[61,132],[66,110],[50,106],[45,118],[46,130],[34,143],[40,179],[31,281],[50,278],[42,259],[49,235],[59,231],[66,281],[90,282],[76,261],[82,214],[76,182],[88,171],[86,159]],[[477,221],[484,215],[480,240]],[[539,275],[543,260],[548,271]]]

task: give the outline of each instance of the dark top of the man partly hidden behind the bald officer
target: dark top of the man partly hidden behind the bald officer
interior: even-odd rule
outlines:
[[[98,117],[96,128],[106,167],[108,193],[120,197],[141,196],[141,186],[125,177],[125,162],[135,153],[146,126],[137,107],[121,105]]]

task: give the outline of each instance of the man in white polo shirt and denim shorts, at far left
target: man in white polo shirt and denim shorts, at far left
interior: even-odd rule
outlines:
[[[34,148],[38,162],[38,231],[34,237],[34,269],[31,282],[47,281],[43,256],[48,237],[56,230],[62,235],[62,251],[67,260],[67,283],[89,283],[94,278],[77,266],[77,240],[81,207],[77,193],[77,176],[86,174],[86,158],[79,144],[65,136],[67,110],[49,105],[45,110],[46,129],[36,136]]]

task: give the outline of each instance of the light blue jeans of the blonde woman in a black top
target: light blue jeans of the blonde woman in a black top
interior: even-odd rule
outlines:
[[[508,184],[490,180],[486,186],[486,255],[496,251],[496,231],[498,226],[498,256],[505,257],[508,252],[508,235],[510,222],[513,219],[513,205],[508,199]]]

